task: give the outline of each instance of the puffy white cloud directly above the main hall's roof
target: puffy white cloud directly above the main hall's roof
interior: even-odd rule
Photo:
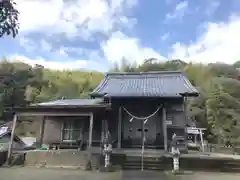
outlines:
[[[136,38],[130,38],[121,32],[116,32],[105,43],[102,50],[106,59],[112,63],[121,63],[127,59],[130,63],[142,63],[146,58],[163,59],[156,51],[149,47],[142,47]]]

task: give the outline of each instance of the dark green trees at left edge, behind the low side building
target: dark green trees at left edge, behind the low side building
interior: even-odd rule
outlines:
[[[26,106],[33,101],[29,88],[41,91],[42,81],[37,74],[39,69],[24,63],[0,63],[0,117],[11,119],[11,112],[16,106]],[[31,95],[30,95],[31,94]]]

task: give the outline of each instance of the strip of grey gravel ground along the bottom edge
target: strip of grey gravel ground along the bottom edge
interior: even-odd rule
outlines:
[[[171,173],[124,171],[100,173],[70,169],[13,167],[0,168],[0,180],[240,180],[240,174],[195,172]]]

